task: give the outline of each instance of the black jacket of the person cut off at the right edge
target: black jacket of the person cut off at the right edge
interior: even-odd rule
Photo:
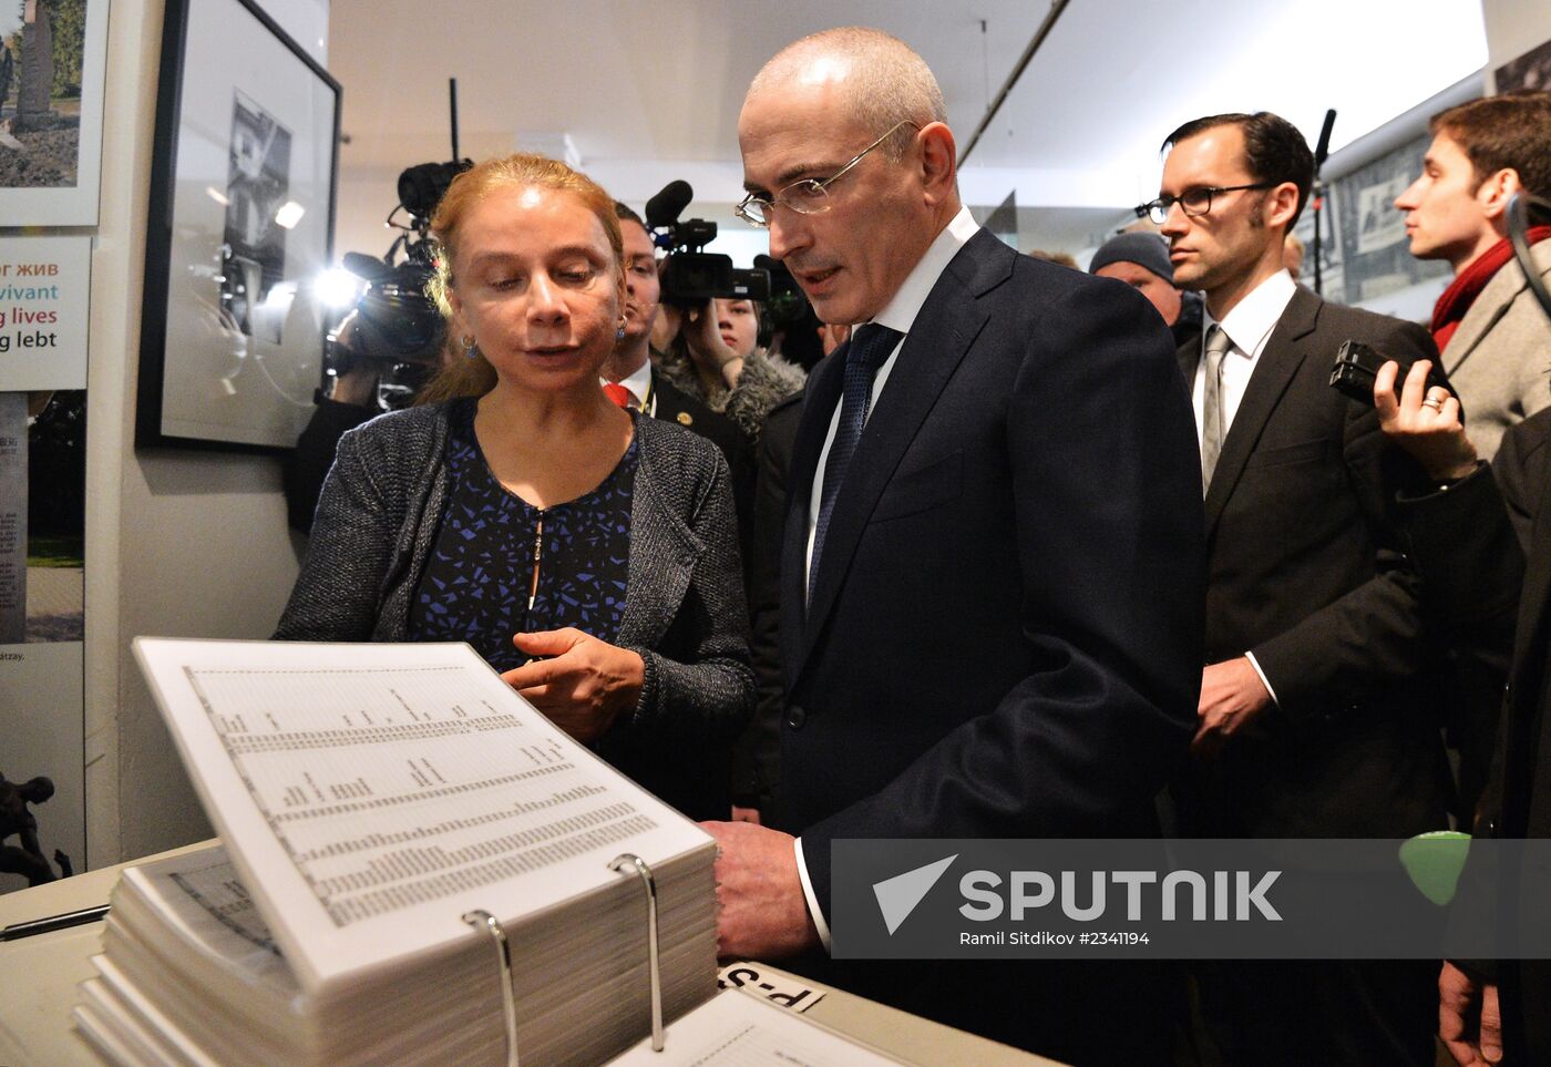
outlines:
[[[1402,501],[1430,606],[1489,665],[1512,656],[1477,836],[1551,837],[1548,439],[1551,411],[1540,411],[1503,436],[1491,473]],[[1467,872],[1455,907],[1545,910],[1542,890],[1529,887],[1531,900],[1517,892],[1472,886]],[[1486,969],[1501,996],[1504,1062],[1551,1062],[1551,960],[1500,960]]]

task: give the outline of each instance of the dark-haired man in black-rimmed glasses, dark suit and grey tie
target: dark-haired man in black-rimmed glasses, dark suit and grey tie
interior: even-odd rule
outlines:
[[[1179,350],[1207,507],[1207,667],[1174,789],[1180,830],[1442,830],[1436,650],[1380,479],[1397,453],[1373,403],[1329,386],[1346,340],[1394,358],[1436,350],[1419,326],[1328,304],[1283,267],[1314,180],[1290,123],[1214,115],[1165,147],[1160,195],[1138,212],[1168,237],[1174,281],[1207,302],[1202,340]],[[1222,1062],[1433,1062],[1435,962],[1231,960],[1193,972]]]

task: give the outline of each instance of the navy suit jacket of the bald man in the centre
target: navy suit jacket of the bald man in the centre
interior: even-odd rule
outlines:
[[[780,811],[820,907],[838,837],[1155,833],[1196,718],[1202,619],[1200,471],[1157,312],[977,233],[900,347],[805,609],[844,361],[808,378],[780,578]],[[962,975],[938,982],[960,1002],[1025,1005],[994,1036],[1083,1048],[1035,1044],[1035,1008],[1062,989],[1025,988],[1027,966],[1011,985],[991,962],[915,971]],[[941,1000],[909,1007],[945,1017]]]

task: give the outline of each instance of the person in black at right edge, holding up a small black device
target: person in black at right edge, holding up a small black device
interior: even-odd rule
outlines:
[[[1415,364],[1396,395],[1397,368],[1385,364],[1374,382],[1374,405],[1383,433],[1430,479],[1397,493],[1428,608],[1447,622],[1461,654],[1508,679],[1497,754],[1473,831],[1478,837],[1551,836],[1548,775],[1540,766],[1551,746],[1551,512],[1539,506],[1551,411],[1512,426],[1487,467],[1464,431],[1459,402],[1439,386],[1427,388],[1427,361]],[[1523,543],[1512,516],[1528,521]],[[1508,901],[1463,890],[1455,907],[1500,909]],[[1439,1036],[1459,1064],[1551,1062],[1551,962],[1446,962],[1438,996]]]

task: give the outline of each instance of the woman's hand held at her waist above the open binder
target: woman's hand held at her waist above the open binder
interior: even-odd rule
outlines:
[[[501,675],[501,681],[575,740],[596,741],[641,699],[647,665],[637,653],[591,637],[575,627],[516,634],[527,656],[544,656]]]

